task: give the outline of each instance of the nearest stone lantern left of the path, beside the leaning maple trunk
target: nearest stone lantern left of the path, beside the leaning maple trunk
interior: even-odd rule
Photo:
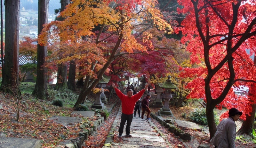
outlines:
[[[101,91],[96,94],[95,102],[92,104],[92,108],[95,109],[105,109],[104,103],[108,102],[108,98],[104,94],[104,88],[110,79],[106,78],[106,76],[102,76],[102,79],[97,84],[96,88],[101,88]]]

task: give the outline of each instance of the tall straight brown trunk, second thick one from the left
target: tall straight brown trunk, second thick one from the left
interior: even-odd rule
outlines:
[[[38,1],[38,35],[43,30],[43,25],[48,23],[48,8],[49,0]],[[36,86],[33,95],[37,98],[46,100],[47,92],[47,67],[44,67],[47,57],[47,45],[40,46],[37,44],[37,71],[36,71]]]

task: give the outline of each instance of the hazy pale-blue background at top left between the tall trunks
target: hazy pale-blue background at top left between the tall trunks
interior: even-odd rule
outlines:
[[[20,9],[38,11],[38,0],[20,0]],[[54,13],[54,9],[60,8],[60,0],[49,1],[49,14]]]

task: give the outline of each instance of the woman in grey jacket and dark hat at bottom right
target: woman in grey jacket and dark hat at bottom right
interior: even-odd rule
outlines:
[[[216,133],[211,139],[215,148],[235,148],[236,123],[243,113],[236,108],[228,111],[228,118],[223,119],[217,126]]]

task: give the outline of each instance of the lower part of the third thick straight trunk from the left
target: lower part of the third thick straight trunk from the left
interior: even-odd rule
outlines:
[[[66,91],[68,89],[67,71],[67,63],[61,63],[58,67],[57,83],[54,90]]]

